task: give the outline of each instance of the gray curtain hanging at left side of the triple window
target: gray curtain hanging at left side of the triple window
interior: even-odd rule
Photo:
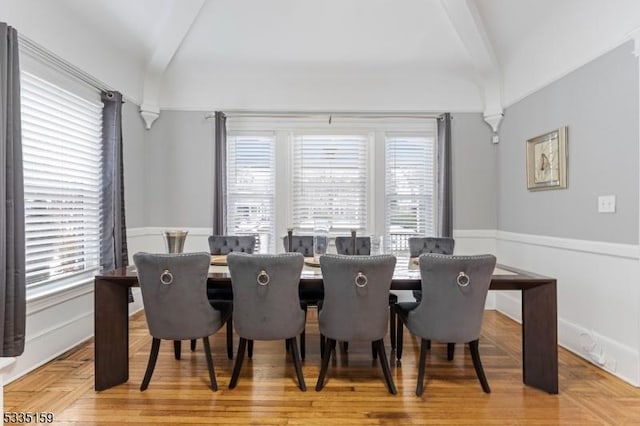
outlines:
[[[225,235],[227,232],[227,116],[221,111],[216,111],[215,122],[213,235]]]

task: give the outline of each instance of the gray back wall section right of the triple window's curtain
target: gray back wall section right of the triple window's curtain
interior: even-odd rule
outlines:
[[[497,227],[497,148],[492,135],[482,114],[453,114],[454,229]]]

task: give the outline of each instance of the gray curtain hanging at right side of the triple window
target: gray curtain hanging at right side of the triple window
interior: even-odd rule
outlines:
[[[438,236],[453,238],[451,114],[438,117]]]

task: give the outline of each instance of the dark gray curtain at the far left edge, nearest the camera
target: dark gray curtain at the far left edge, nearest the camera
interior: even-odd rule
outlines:
[[[0,357],[24,352],[24,180],[18,33],[0,22]]]

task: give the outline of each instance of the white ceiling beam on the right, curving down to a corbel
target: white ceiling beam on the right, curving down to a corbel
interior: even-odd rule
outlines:
[[[494,132],[502,120],[500,66],[474,0],[441,0],[453,28],[480,76],[484,95],[484,119]]]

